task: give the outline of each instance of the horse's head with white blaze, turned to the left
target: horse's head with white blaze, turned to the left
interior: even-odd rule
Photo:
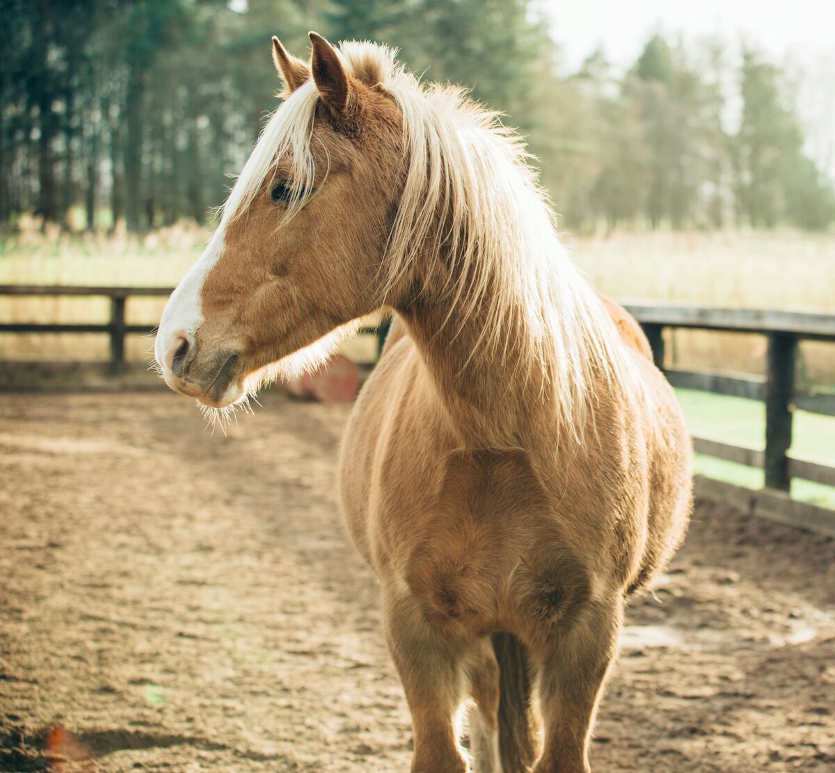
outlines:
[[[381,83],[390,54],[311,42],[308,64],[273,38],[286,98],[159,323],[166,383],[211,407],[245,399],[293,354],[315,360],[311,344],[386,301],[380,269],[404,163],[402,113]]]

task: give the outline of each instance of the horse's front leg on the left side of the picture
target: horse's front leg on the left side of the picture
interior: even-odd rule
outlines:
[[[383,618],[412,714],[412,773],[466,773],[455,730],[466,687],[466,647],[433,629],[412,597],[393,589],[383,590]]]

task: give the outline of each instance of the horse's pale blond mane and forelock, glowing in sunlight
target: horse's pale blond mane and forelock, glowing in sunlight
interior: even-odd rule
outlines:
[[[560,424],[581,438],[600,379],[626,394],[635,379],[615,325],[559,241],[522,139],[463,89],[418,81],[390,48],[351,42],[338,53],[353,77],[381,84],[402,111],[407,173],[384,260],[387,287],[443,249],[454,279],[445,308],[458,320],[478,311],[478,350],[495,354],[514,339],[519,363],[548,374],[559,415],[569,419]],[[286,217],[304,205],[316,173],[317,98],[308,80],[273,113],[225,203],[221,228],[245,213],[285,156],[298,188]]]

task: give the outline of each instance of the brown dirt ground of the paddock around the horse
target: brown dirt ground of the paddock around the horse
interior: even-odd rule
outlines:
[[[0,770],[408,769],[347,409],[262,402],[0,395]],[[701,502],[627,622],[597,773],[835,770],[835,542]]]

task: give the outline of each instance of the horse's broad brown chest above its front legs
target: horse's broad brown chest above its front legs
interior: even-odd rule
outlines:
[[[490,630],[519,614],[564,616],[588,585],[564,547],[524,454],[453,454],[434,506],[417,517],[405,580],[428,620]]]

